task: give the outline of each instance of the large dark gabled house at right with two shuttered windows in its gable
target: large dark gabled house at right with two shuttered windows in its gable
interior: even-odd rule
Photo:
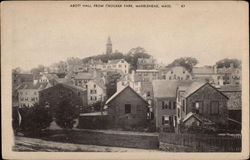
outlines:
[[[183,122],[190,113],[195,113],[205,122],[218,125],[228,123],[228,97],[208,82],[194,81],[178,85],[176,98],[177,124]]]

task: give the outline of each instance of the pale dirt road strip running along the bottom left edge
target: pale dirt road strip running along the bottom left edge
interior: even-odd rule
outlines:
[[[15,137],[13,150],[27,152],[160,152],[158,150],[60,143],[19,136]]]

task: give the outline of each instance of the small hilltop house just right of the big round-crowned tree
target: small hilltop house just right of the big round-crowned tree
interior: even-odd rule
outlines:
[[[138,58],[137,60],[137,69],[155,69],[156,60],[153,57],[150,58]]]

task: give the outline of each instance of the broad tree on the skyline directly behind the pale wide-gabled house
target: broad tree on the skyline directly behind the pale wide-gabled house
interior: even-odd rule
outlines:
[[[198,63],[198,60],[193,57],[181,57],[175,59],[172,63],[170,63],[167,67],[173,66],[182,66],[185,67],[188,71],[192,71],[193,67]]]

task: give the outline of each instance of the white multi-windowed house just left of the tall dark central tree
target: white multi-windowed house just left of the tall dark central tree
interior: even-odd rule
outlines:
[[[106,87],[101,79],[94,79],[87,82],[88,105],[103,102],[106,99]]]

